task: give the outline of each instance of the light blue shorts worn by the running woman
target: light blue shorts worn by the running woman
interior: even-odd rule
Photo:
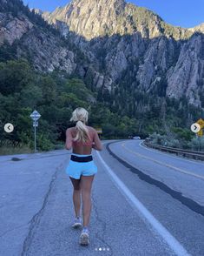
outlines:
[[[80,155],[71,153],[72,155],[75,155],[77,157],[88,157],[91,155]],[[75,162],[71,159],[69,160],[69,165],[66,168],[66,173],[74,178],[74,179],[80,179],[82,176],[92,176],[97,172],[97,166],[95,165],[94,161],[90,162]]]

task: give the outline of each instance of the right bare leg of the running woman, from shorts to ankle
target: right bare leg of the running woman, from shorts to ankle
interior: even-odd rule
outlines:
[[[83,226],[89,225],[93,176],[81,176]]]

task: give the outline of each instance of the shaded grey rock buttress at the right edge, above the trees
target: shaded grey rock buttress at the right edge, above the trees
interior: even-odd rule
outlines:
[[[194,35],[181,44],[181,51],[174,66],[168,69],[168,97],[187,95],[192,104],[201,104],[204,91],[204,37]]]

